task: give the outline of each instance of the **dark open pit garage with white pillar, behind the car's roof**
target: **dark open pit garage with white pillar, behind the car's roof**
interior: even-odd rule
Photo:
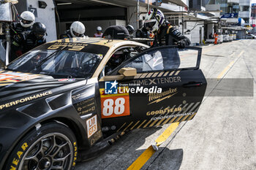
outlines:
[[[43,2],[44,5],[39,4],[39,1],[21,0],[16,7],[18,12],[29,9],[34,13],[37,21],[45,24],[48,29],[48,42],[59,39],[59,36],[64,34],[76,20],[86,26],[85,34],[90,37],[96,32],[97,26],[101,26],[104,31],[108,26],[127,24],[127,7],[122,5],[100,1],[46,0]]]

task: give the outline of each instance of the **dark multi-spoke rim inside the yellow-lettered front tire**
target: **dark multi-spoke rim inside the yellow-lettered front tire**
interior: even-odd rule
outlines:
[[[59,133],[46,134],[37,139],[24,154],[18,170],[70,169],[72,142]]]

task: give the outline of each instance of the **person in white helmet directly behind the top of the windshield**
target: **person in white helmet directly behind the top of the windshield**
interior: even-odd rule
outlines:
[[[84,33],[86,27],[80,21],[75,21],[71,24],[69,30],[65,31],[65,34],[61,35],[61,39],[68,39],[72,37],[86,37]]]

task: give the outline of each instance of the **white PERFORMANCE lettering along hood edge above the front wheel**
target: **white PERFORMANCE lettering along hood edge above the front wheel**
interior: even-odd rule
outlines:
[[[41,98],[43,96],[48,96],[48,95],[50,95],[52,93],[53,92],[50,90],[50,91],[46,91],[46,92],[43,92],[43,93],[37,93],[37,94],[34,94],[33,96],[28,96],[26,98],[20,98],[18,100],[11,101],[11,102],[6,103],[6,104],[1,104],[0,105],[0,110],[4,109],[4,108],[7,108],[7,107],[15,106],[16,104],[24,103],[26,101],[31,101],[31,100],[34,100],[34,99],[37,99],[37,98]]]

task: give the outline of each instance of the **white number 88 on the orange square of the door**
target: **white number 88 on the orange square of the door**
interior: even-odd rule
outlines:
[[[115,105],[114,105],[115,104]],[[103,110],[102,114],[104,116],[110,116],[113,115],[121,115],[124,113],[124,104],[125,99],[124,98],[108,98],[103,102]]]

